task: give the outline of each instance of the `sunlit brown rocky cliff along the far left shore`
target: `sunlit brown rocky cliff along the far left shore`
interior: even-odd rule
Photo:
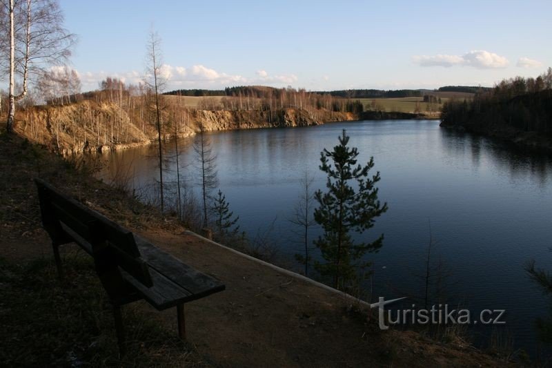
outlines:
[[[176,115],[175,115],[176,116]],[[354,120],[351,113],[315,110],[311,113],[296,108],[284,110],[181,110],[178,112],[178,136],[188,137],[199,131],[311,126],[324,122]],[[166,113],[165,122],[174,121]],[[178,119],[176,119],[178,120]],[[174,126],[166,123],[164,138],[174,137]],[[15,130],[62,155],[86,152],[106,153],[144,146],[157,140],[157,130],[142,113],[117,104],[81,101],[66,106],[34,106],[17,115]]]

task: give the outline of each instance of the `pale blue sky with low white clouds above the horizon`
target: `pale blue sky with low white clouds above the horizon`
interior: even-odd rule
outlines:
[[[60,0],[83,91],[137,84],[161,39],[166,90],[493,86],[552,66],[552,1]]]

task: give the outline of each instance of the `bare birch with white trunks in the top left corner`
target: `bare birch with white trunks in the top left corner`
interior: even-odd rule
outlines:
[[[0,0],[0,66],[9,75],[8,121],[13,130],[15,103],[27,94],[29,79],[70,56],[75,35],[63,28],[57,0]],[[16,81],[21,90],[16,91]]]

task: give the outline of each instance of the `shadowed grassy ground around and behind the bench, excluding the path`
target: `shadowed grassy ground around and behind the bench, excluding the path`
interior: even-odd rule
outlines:
[[[139,303],[123,308],[128,354],[119,357],[112,309],[88,255],[67,253],[63,264],[69,281],[57,280],[32,178],[43,177],[124,226],[172,224],[155,209],[92,179],[95,164],[83,157],[66,162],[44,147],[7,135],[3,126],[0,132],[3,366],[204,366],[175,331],[146,316]]]

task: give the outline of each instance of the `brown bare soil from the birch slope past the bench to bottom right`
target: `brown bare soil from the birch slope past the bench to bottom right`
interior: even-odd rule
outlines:
[[[226,290],[186,304],[188,343],[220,367],[497,367],[504,360],[462,340],[442,344],[413,331],[380,331],[368,311],[317,287],[189,233],[43,148],[0,135],[0,256],[52,258],[32,178],[49,180],[92,209],[139,233]],[[77,249],[65,246],[66,256]],[[129,307],[176,333],[176,313],[146,302]],[[37,320],[39,323],[39,320]],[[48,365],[48,362],[45,362]]]

